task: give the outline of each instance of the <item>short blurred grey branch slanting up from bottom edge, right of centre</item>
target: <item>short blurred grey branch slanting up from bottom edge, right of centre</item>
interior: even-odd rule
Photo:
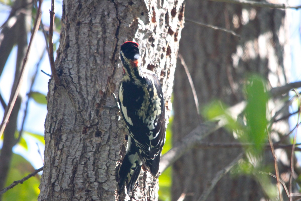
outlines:
[[[225,176],[231,168],[233,168],[234,165],[237,164],[237,162],[243,157],[243,153],[240,153],[227,167],[224,169],[220,170],[215,177],[213,178],[212,181],[210,181],[210,185],[206,187],[206,189],[203,191],[202,195],[199,197],[198,201],[205,201],[207,197],[209,196],[210,192],[213,190],[217,182]]]

